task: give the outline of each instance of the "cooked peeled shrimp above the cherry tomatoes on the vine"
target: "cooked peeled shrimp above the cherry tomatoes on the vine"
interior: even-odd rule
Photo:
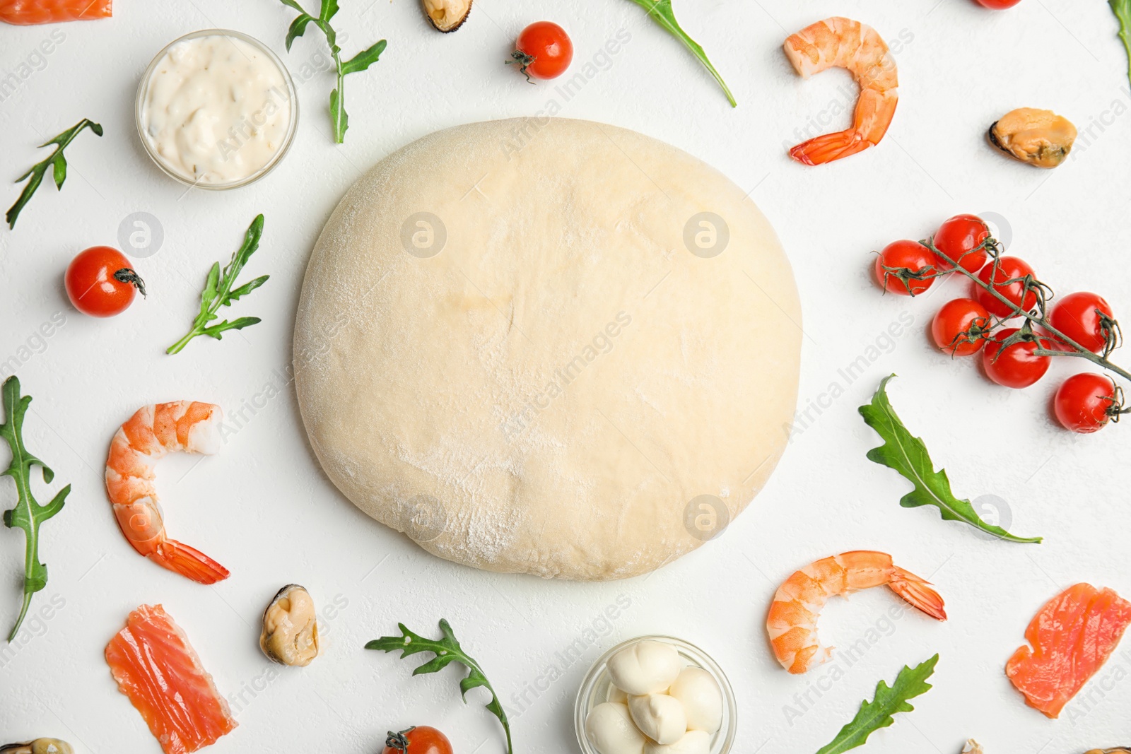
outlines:
[[[899,85],[896,60],[874,28],[834,16],[817,21],[785,41],[785,54],[804,77],[826,68],[846,68],[860,84],[852,128],[826,133],[789,150],[798,163],[820,165],[874,147],[896,114]]]

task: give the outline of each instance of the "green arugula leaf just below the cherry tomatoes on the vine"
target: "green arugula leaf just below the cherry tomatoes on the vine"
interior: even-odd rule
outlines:
[[[1041,537],[1017,537],[1001,527],[986,523],[978,517],[969,500],[959,500],[950,491],[950,479],[947,478],[946,469],[934,470],[934,462],[927,453],[926,445],[904,426],[896,409],[891,407],[887,388],[893,376],[896,375],[891,374],[883,379],[872,396],[872,402],[861,406],[860,414],[883,440],[882,445],[867,451],[867,460],[899,471],[905,479],[915,485],[914,489],[899,500],[899,504],[904,508],[934,505],[944,521],[965,521],[1008,541],[1039,543]]]

